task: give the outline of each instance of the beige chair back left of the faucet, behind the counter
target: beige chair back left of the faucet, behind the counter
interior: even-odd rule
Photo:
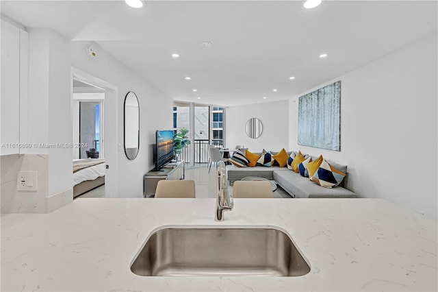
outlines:
[[[194,180],[159,180],[155,197],[196,197]]]

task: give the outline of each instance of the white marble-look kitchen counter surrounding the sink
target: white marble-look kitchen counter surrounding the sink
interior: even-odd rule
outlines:
[[[437,221],[383,199],[79,198],[50,214],[1,215],[1,291],[437,291]],[[143,277],[129,269],[164,226],[289,233],[300,277]]]

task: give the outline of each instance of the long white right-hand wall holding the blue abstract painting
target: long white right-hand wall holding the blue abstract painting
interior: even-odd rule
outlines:
[[[437,219],[437,49],[435,34],[331,80],[342,83],[340,152],[297,144],[298,97],[290,99],[289,148],[348,165],[360,197]]]

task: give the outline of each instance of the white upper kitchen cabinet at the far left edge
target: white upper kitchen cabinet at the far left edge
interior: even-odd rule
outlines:
[[[27,32],[1,20],[1,155],[19,154],[20,120],[27,119],[21,106],[27,106],[28,36]],[[21,98],[23,100],[21,101]]]

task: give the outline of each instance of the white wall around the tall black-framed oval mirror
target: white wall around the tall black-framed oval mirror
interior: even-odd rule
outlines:
[[[86,48],[92,44],[96,47],[96,58],[89,58]],[[114,122],[118,127],[117,136],[112,139],[108,130],[105,138],[113,141],[112,145],[105,143],[105,159],[112,152],[108,148],[117,149],[118,144],[123,147],[123,102],[129,91],[136,93],[140,104],[140,149],[135,160],[128,160],[123,148],[114,151],[118,162],[116,169],[118,178],[117,197],[142,197],[143,176],[153,169],[153,144],[155,130],[172,129],[172,100],[161,91],[150,86],[146,80],[131,71],[109,53],[103,51],[99,45],[92,42],[72,42],[72,62],[75,68],[94,77],[98,77],[118,88],[116,101],[109,101],[105,97],[105,123]],[[117,119],[114,121],[114,119]],[[114,129],[115,130],[115,129]],[[114,165],[110,165],[114,170]]]

